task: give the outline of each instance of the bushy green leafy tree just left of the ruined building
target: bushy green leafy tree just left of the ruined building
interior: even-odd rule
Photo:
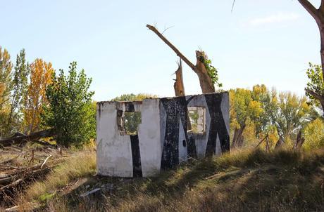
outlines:
[[[92,82],[84,69],[77,74],[77,63],[71,62],[68,76],[63,69],[53,74],[52,84],[46,89],[49,105],[44,107],[42,123],[54,128],[58,145],[80,147],[94,138],[96,126],[93,91],[89,91]]]

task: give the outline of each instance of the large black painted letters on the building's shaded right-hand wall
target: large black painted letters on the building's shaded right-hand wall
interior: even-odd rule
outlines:
[[[161,159],[161,168],[171,168],[179,164],[179,124],[180,120],[185,133],[185,143],[187,146],[188,157],[197,158],[197,150],[193,136],[187,133],[187,118],[189,102],[197,96],[191,96],[186,100],[185,96],[177,98],[162,98],[161,104],[166,111],[166,128],[165,138],[163,142],[163,152]],[[221,110],[221,102],[223,93],[211,93],[204,95],[206,100],[208,113],[211,117],[211,123],[208,131],[208,140],[206,147],[206,155],[216,153],[217,135],[220,141],[220,149],[222,152],[230,150],[230,135],[225,125]],[[192,105],[191,105],[192,106]],[[203,106],[203,105],[194,105]],[[163,130],[163,129],[162,129]],[[184,141],[182,140],[182,143]]]

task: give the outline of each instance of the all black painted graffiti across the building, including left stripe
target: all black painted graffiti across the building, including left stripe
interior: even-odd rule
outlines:
[[[166,119],[166,126],[161,128],[164,131],[163,151],[161,157],[161,168],[167,169],[179,164],[179,144],[187,148],[187,157],[197,158],[197,147],[192,134],[187,133],[188,119],[188,104],[190,101],[197,98],[197,95],[176,97],[176,98],[161,98],[161,107],[165,113],[160,114],[160,119]],[[210,115],[210,124],[208,126],[208,140],[206,144],[206,155],[216,153],[217,137],[220,142],[221,152],[230,150],[230,136],[226,128],[224,116],[221,110],[223,93],[205,94],[208,114]],[[133,112],[134,105],[127,102],[126,111]],[[193,105],[190,105],[192,107]],[[194,105],[204,107],[204,105]],[[185,139],[180,140],[180,121],[184,131]],[[163,134],[163,133],[161,133]],[[206,135],[206,134],[205,134]],[[134,177],[142,177],[141,155],[139,150],[138,135],[130,135],[132,149],[132,166]]]

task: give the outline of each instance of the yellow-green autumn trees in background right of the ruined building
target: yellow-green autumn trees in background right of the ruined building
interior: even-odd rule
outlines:
[[[269,91],[264,85],[256,85],[250,91],[230,90],[230,126],[232,146],[255,146],[257,140],[268,135],[270,146],[281,137],[292,147],[299,130],[319,117],[306,102],[289,92]],[[234,143],[234,145],[233,145]],[[235,145],[236,144],[236,145]]]

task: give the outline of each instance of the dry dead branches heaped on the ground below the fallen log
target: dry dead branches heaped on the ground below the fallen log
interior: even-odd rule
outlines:
[[[46,173],[70,155],[68,150],[49,146],[0,149],[0,205],[15,206],[15,197],[23,192],[26,185],[44,178]]]

